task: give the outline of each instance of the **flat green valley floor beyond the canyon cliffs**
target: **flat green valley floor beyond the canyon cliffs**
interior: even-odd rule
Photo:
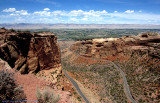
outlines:
[[[53,32],[61,40],[88,40],[94,38],[122,37],[143,32],[160,32],[159,29],[36,29],[31,32]]]

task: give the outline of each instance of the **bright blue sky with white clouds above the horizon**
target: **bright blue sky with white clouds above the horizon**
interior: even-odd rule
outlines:
[[[160,25],[160,0],[0,0],[3,23]]]

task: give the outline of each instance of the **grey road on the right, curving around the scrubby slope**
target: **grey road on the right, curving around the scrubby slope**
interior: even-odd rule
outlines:
[[[70,49],[69,49],[69,51],[70,51],[70,52],[73,52],[73,51],[71,51]],[[76,53],[76,52],[73,52],[73,53],[76,54],[76,55],[78,55],[78,56],[81,56],[81,55],[79,55],[79,54]],[[81,57],[84,57],[84,56],[81,56]],[[84,58],[88,58],[88,57],[84,57]],[[99,59],[99,60],[102,60],[101,58],[91,58],[91,59],[97,59],[97,60]],[[121,76],[122,76],[122,78],[123,78],[123,87],[124,87],[124,91],[125,91],[125,93],[126,93],[126,95],[127,95],[127,98],[128,98],[132,103],[137,103],[137,102],[134,100],[134,98],[132,97],[132,95],[131,95],[131,92],[130,92],[130,90],[129,90],[129,85],[128,85],[128,82],[127,82],[127,79],[126,79],[126,77],[125,77],[124,72],[123,72],[114,62],[108,61],[108,60],[104,60],[104,61],[107,61],[107,62],[113,64],[114,67],[115,67],[118,71],[120,71],[120,74],[121,74]]]

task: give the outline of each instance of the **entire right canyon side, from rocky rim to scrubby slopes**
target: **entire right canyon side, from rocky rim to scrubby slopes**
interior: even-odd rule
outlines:
[[[160,34],[151,32],[141,33],[137,36],[123,36],[121,38],[77,41],[68,50],[64,50],[66,58],[70,58],[71,63],[65,65],[69,65],[70,69],[67,70],[72,72],[91,91],[95,90],[97,93],[101,91],[99,96],[102,95],[103,91],[106,91],[108,95],[100,96],[102,97],[100,99],[102,100],[101,102],[125,102],[124,95],[124,97],[118,98],[118,95],[114,94],[114,92],[107,93],[108,89],[108,92],[110,90],[115,91],[114,87],[112,87],[114,80],[115,86],[119,85],[118,90],[122,88],[121,83],[119,83],[122,77],[119,76],[120,73],[118,71],[115,72],[114,67],[110,67],[112,63],[107,61],[111,61],[124,72],[130,92],[136,102],[152,101],[158,103],[160,87],[159,51]],[[106,67],[106,65],[108,66]],[[114,77],[115,75],[118,76],[116,77],[117,80]],[[108,84],[103,84],[103,81],[98,78],[104,79]],[[108,78],[112,78],[112,81]],[[87,84],[83,82],[84,80]],[[97,85],[98,83],[99,85]],[[108,85],[112,86],[109,87]],[[94,88],[91,88],[92,86]],[[118,90],[115,93],[120,93],[121,90]],[[117,98],[115,95],[117,95]],[[106,100],[105,98],[108,99]]]

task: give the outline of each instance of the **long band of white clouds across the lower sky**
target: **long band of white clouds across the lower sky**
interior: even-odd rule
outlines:
[[[126,10],[125,12],[114,11],[108,13],[106,10],[55,10],[44,8],[42,11],[28,13],[27,10],[16,10],[15,8],[5,9],[2,12],[9,12],[3,15],[0,14],[0,22],[10,20],[10,22],[28,23],[143,23],[143,24],[160,24],[160,14],[144,13],[134,10]],[[27,15],[27,16],[26,16]],[[21,17],[22,19],[18,18]],[[7,21],[7,22],[8,22]],[[148,22],[149,21],[149,22]]]

